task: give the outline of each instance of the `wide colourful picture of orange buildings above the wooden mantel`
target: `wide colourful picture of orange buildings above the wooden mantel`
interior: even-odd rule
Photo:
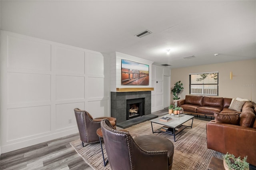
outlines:
[[[149,85],[149,65],[122,59],[121,85]]]

